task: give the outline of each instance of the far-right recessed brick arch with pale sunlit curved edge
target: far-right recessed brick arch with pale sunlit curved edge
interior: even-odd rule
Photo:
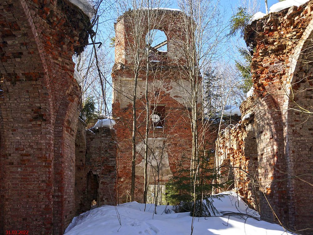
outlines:
[[[291,226],[298,229],[310,227],[308,221],[313,221],[311,203],[305,203],[306,195],[313,194],[313,188],[307,183],[294,178],[301,176],[302,180],[313,182],[313,118],[299,111],[299,107],[313,112],[313,20],[310,21],[299,40],[291,59],[286,94],[284,102],[284,145],[285,158],[288,167],[288,188],[290,198],[294,203],[290,210],[294,215],[290,218]],[[295,110],[296,109],[296,110]]]

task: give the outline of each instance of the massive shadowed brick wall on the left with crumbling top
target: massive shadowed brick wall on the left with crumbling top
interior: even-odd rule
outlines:
[[[65,0],[0,1],[1,234],[63,234],[74,216],[81,90],[72,56],[89,27]]]

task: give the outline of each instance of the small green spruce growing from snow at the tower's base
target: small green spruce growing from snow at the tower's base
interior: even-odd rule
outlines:
[[[190,159],[183,158],[174,175],[166,184],[166,200],[169,204],[175,205],[177,212],[190,212],[190,216],[208,217],[215,215],[217,210],[213,205],[213,199],[220,196],[212,195],[213,188],[220,188],[223,185],[214,183],[220,178],[217,169],[210,168],[209,156],[204,154],[197,161],[197,169],[187,169],[186,163]],[[197,174],[191,177],[190,171]],[[194,203],[195,202],[195,203]]]

